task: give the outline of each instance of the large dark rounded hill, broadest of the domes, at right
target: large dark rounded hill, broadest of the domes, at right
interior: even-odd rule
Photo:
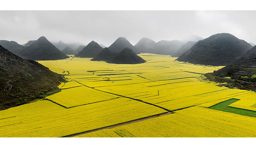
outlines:
[[[219,33],[197,41],[176,60],[193,64],[223,66],[236,61],[251,48],[252,46],[244,40],[229,33]]]

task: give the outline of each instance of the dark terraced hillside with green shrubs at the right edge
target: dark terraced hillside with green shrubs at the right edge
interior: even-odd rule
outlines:
[[[206,76],[212,81],[227,82],[230,88],[256,91],[256,46],[238,60],[218,71],[207,73]],[[224,79],[224,77],[231,78]]]

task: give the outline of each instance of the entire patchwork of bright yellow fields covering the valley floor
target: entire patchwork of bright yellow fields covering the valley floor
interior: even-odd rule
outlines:
[[[244,116],[250,114],[246,110],[255,113],[256,93],[204,80],[204,73],[222,67],[183,63],[165,55],[139,56],[147,62],[109,64],[76,57],[38,61],[67,82],[45,100],[0,111],[0,137],[256,136],[255,117]],[[226,108],[246,113],[211,109],[230,99],[236,101]],[[155,115],[160,117],[140,121]],[[93,131],[112,125],[117,126]]]

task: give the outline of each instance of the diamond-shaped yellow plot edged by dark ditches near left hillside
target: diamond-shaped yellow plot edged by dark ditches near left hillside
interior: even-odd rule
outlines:
[[[90,104],[99,101],[115,99],[119,96],[110,93],[97,91],[93,88],[80,86],[62,89],[60,92],[46,97],[57,104],[70,108],[78,105]]]

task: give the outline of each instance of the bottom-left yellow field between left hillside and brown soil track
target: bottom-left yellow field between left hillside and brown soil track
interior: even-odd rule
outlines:
[[[165,112],[127,98],[69,109],[50,101],[37,101],[0,111],[4,117],[15,116],[0,120],[0,137],[62,137]]]

